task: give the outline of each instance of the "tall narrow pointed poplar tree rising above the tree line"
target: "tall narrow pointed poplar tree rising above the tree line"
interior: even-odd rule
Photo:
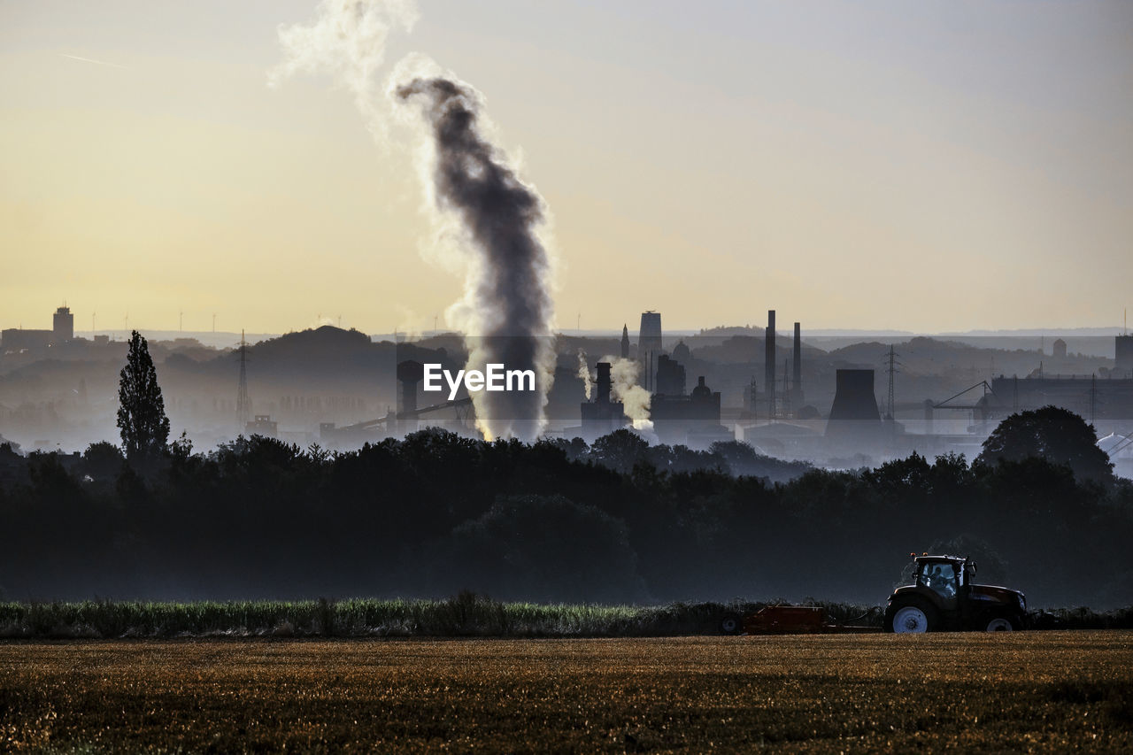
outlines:
[[[144,463],[160,457],[169,440],[169,417],[150,349],[136,330],[130,333],[126,366],[118,382],[118,430],[126,458]]]

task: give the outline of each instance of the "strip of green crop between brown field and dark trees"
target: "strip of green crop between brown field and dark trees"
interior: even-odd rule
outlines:
[[[829,620],[879,626],[878,608],[809,601]],[[664,637],[715,634],[729,612],[766,603],[566,605],[502,603],[471,593],[448,600],[86,601],[0,603],[0,638],[119,637]],[[1133,608],[1055,609],[1036,628],[1133,628]]]

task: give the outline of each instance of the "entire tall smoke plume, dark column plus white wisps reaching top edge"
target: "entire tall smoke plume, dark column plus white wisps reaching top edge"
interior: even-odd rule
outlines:
[[[375,139],[391,143],[389,124],[411,121],[427,149],[420,168],[436,232],[428,252],[465,273],[461,300],[445,312],[446,324],[468,341],[466,368],[503,364],[533,370],[536,390],[474,392],[477,424],[488,438],[536,438],[546,424],[544,406],[554,376],[551,334],[551,258],[539,240],[546,210],[523,185],[491,139],[477,92],[441,73],[424,56],[406,56],[390,74],[386,97],[375,87],[390,35],[409,32],[418,17],[415,0],[320,0],[307,24],[280,27],[286,58],[270,71],[278,86],[297,73],[329,73],[353,94]],[[406,82],[409,82],[406,84]],[[420,104],[424,121],[391,102]],[[421,125],[424,122],[425,130]]]

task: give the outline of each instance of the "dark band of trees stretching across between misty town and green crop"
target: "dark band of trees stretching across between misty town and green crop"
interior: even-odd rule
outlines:
[[[151,398],[127,421],[153,407],[137,384]],[[972,463],[913,453],[849,472],[624,430],[593,444],[434,429],[349,452],[261,436],[196,452],[157,414],[150,436],[123,430],[125,452],[0,447],[2,596],[877,603],[910,551],[944,551],[1032,605],[1133,603],[1133,483],[1053,407],[1005,421]]]

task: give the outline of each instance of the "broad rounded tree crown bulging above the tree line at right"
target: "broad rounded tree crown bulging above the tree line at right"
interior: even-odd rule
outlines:
[[[1093,427],[1079,415],[1056,406],[1013,414],[983,441],[977,461],[995,465],[1043,458],[1068,466],[1079,480],[1108,482],[1114,465],[1098,448]]]

